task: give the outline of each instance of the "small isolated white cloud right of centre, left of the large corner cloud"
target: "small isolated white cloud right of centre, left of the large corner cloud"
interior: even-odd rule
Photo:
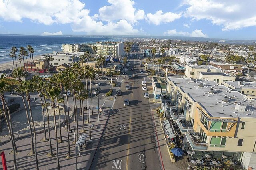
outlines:
[[[161,10],[157,11],[155,14],[148,13],[147,20],[155,25],[159,25],[160,23],[169,23],[173,22],[176,19],[181,17],[181,13],[176,14],[172,12],[163,13]]]

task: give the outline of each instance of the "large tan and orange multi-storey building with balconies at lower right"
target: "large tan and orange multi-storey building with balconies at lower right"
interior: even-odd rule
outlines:
[[[190,159],[256,166],[255,100],[207,79],[168,77],[166,90],[163,124],[172,126],[166,134],[183,136]]]

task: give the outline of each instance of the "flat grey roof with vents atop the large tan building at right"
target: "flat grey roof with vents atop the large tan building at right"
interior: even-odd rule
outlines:
[[[184,93],[198,102],[211,117],[256,117],[256,100],[246,99],[245,95],[238,91],[231,91],[224,85],[218,85],[206,79],[190,82],[189,79],[168,77],[168,80],[173,81]],[[204,83],[204,87],[199,87],[200,83]],[[208,93],[210,89],[214,89],[213,94]],[[229,98],[227,103],[222,101],[225,95]],[[236,110],[236,103],[246,105],[245,111]]]

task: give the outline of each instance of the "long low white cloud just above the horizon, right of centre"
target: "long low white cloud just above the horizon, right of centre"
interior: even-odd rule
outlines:
[[[208,37],[206,34],[202,33],[202,30],[194,30],[191,33],[189,32],[177,32],[176,29],[174,30],[167,30],[164,32],[166,36],[188,36],[188,37]]]

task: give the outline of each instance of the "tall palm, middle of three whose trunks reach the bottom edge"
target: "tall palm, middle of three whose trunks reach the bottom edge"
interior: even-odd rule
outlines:
[[[31,104],[30,104],[30,92],[34,91],[34,85],[31,83],[31,81],[24,81],[22,83],[22,85],[24,86],[25,89],[25,93],[26,93],[26,100],[28,102],[28,109],[30,112],[30,119],[32,122],[32,127],[33,127],[33,132],[34,132],[34,140],[35,140],[35,160],[36,160],[36,170],[39,170],[39,166],[38,166],[38,158],[37,158],[37,146],[36,146],[36,128],[35,128],[35,124],[34,124],[34,119],[33,119],[33,114],[31,111]],[[26,106],[25,106],[26,107]]]

